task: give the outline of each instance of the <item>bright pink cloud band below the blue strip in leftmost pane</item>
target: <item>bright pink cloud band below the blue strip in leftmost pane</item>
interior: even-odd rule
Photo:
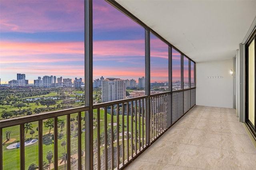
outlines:
[[[1,63],[84,61],[84,42],[29,43],[1,41]],[[70,54],[82,57],[58,57]],[[41,57],[44,56],[44,57]]]

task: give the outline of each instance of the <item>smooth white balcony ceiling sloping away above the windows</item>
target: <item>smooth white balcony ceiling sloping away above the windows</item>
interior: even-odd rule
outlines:
[[[231,59],[256,18],[256,0],[116,0],[196,62]]]

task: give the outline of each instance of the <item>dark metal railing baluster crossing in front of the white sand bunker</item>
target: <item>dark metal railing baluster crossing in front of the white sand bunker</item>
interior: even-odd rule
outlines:
[[[20,170],[25,170],[25,132],[24,123],[20,124]],[[2,147],[2,146],[1,146]]]

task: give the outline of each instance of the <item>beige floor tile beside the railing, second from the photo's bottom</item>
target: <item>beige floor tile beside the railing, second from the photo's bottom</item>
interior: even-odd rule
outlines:
[[[157,140],[138,160],[175,165],[185,146],[182,143]]]

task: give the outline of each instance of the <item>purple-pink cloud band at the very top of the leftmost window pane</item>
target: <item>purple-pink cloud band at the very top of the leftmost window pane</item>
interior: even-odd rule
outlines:
[[[84,30],[84,1],[1,0],[1,32]]]

